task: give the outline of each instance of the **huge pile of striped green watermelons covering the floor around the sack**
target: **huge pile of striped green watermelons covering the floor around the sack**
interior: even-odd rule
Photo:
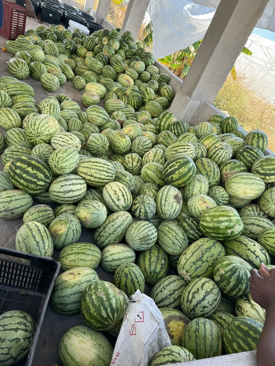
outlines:
[[[45,33],[66,32],[39,27],[25,38],[41,48],[51,45]],[[63,94],[38,102],[28,84],[0,78],[0,217],[23,217],[18,250],[59,251],[64,272],[52,306],[64,315],[81,312],[87,324],[60,340],[63,366],[87,359],[110,365],[113,348],[100,332],[118,336],[129,297],[146,284],[154,285],[151,298],[172,343],[151,366],[256,349],[265,311],[249,293],[250,269],[261,262],[275,268],[275,156],[264,156],[267,135],[247,134],[233,116],[197,126],[178,120],[165,109],[173,98],[169,76],[159,75],[130,32],[81,40],[76,49],[95,44],[74,69],[83,71],[78,81],[86,83],[86,73],[95,78],[85,85],[85,112]],[[90,242],[79,242],[83,228]],[[113,283],[99,279],[99,265],[114,273]],[[0,338],[11,339],[4,328],[12,317],[3,318]],[[20,355],[11,347],[2,359],[0,351],[0,361],[21,359],[30,347],[24,344]]]

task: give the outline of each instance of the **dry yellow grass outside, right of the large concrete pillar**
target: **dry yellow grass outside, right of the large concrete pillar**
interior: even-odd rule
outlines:
[[[235,116],[246,130],[263,130],[269,138],[268,147],[275,151],[275,106],[256,94],[247,79],[229,75],[220,89],[214,105]]]

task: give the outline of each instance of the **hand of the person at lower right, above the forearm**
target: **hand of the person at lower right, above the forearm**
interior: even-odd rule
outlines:
[[[275,309],[275,269],[250,270],[249,284],[252,299],[265,310]]]

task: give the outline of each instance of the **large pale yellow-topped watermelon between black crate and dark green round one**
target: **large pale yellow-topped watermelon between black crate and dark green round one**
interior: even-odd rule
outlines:
[[[96,272],[87,267],[77,267],[61,273],[52,290],[52,306],[55,311],[60,314],[78,313],[83,291],[96,280],[99,280]]]

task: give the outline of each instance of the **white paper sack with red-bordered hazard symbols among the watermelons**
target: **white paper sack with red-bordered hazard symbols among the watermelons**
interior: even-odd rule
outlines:
[[[163,316],[154,300],[139,290],[130,298],[110,366],[147,366],[162,348],[171,346]]]

